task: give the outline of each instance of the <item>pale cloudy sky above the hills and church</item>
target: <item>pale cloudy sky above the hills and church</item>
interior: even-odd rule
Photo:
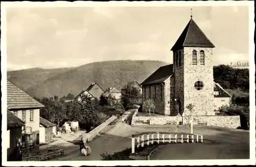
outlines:
[[[7,69],[61,68],[106,60],[173,62],[191,7],[7,9]],[[248,61],[248,8],[193,7],[216,46],[214,65]]]

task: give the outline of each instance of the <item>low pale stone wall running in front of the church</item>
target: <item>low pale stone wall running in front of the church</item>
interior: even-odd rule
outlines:
[[[184,124],[190,124],[190,116],[184,116]],[[132,125],[179,125],[181,116],[134,116]],[[240,127],[240,116],[193,116],[193,125],[216,126],[236,129]]]

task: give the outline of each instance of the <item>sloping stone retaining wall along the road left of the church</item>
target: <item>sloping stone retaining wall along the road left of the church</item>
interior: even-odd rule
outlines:
[[[97,126],[96,128],[94,128],[89,133],[82,134],[82,140],[91,141],[95,136],[97,136],[100,133],[100,131],[102,131],[106,126],[108,126],[116,118],[117,118],[117,116],[113,115],[108,120],[106,120],[104,123],[102,123],[99,126]]]

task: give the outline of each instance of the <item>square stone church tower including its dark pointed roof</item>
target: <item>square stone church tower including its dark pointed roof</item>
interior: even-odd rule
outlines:
[[[172,47],[174,66],[174,103],[190,115],[188,104],[195,105],[193,115],[215,115],[212,49],[214,44],[192,19]]]

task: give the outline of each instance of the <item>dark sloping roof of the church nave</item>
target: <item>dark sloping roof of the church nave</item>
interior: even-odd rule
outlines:
[[[173,74],[173,64],[161,66],[150,77],[143,81],[141,85],[164,82],[168,77],[172,76]]]

